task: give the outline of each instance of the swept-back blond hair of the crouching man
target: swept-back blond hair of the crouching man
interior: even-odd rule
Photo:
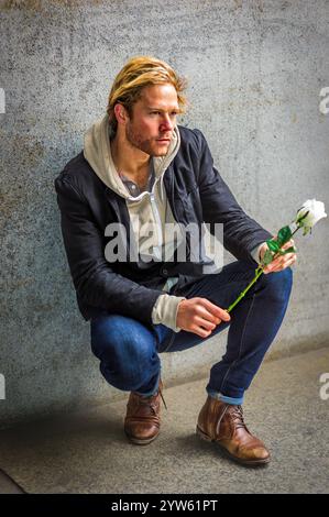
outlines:
[[[112,85],[107,113],[109,116],[110,133],[114,135],[118,121],[114,114],[114,106],[119,102],[124,106],[129,117],[132,116],[132,107],[140,99],[142,89],[150,85],[169,82],[177,91],[179,111],[183,113],[187,99],[183,91],[187,81],[178,77],[176,72],[165,62],[151,56],[132,57],[119,72]]]

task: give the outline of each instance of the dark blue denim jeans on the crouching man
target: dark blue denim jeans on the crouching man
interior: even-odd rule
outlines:
[[[254,263],[255,264],[255,263]],[[255,265],[235,261],[216,274],[205,275],[171,294],[186,298],[202,297],[228,308],[254,277]],[[210,337],[229,327],[227,350],[210,370],[207,393],[229,404],[242,404],[263,358],[285,316],[293,285],[290,267],[263,274]],[[105,310],[91,320],[91,349],[100,360],[100,371],[118,389],[149,396],[157,391],[161,375],[160,353],[177,352],[209,338],[164,324],[144,324],[139,320],[109,315]]]

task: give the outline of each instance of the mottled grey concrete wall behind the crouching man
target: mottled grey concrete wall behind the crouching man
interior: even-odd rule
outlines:
[[[245,211],[270,231],[328,199],[329,4],[325,0],[2,1],[1,425],[127,396],[100,376],[76,306],[53,188],[132,55],[189,79],[182,122],[206,134]],[[327,343],[328,222],[296,235],[299,261],[268,356]],[[232,257],[226,256],[227,261]],[[226,334],[163,358],[166,384],[205,374]],[[326,366],[323,365],[323,371]]]

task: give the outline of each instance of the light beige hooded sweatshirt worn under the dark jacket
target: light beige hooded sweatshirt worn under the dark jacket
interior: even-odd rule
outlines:
[[[145,262],[155,258],[169,257],[174,254],[175,248],[183,239],[179,234],[179,226],[174,219],[166,190],[163,185],[163,176],[176,156],[180,145],[178,128],[175,127],[168,152],[165,156],[153,157],[154,182],[151,191],[139,193],[138,196],[131,194],[131,188],[124,176],[116,169],[110,146],[109,121],[106,114],[102,119],[89,128],[84,140],[84,156],[97,174],[97,176],[114,193],[124,198],[130,216],[134,245],[138,246],[140,256]],[[138,190],[138,187],[132,185]],[[139,191],[139,190],[138,190]],[[176,224],[176,240],[167,237],[166,223]],[[168,227],[167,227],[168,228]],[[150,238],[151,235],[151,238]],[[157,298],[153,310],[152,321],[154,324],[163,323],[175,332],[180,328],[176,326],[178,305],[183,296],[168,295],[166,292],[178,280],[178,277],[169,277],[163,286],[164,294]]]

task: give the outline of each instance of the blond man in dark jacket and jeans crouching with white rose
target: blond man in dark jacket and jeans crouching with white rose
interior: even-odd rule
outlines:
[[[158,354],[186,350],[229,326],[197,433],[233,460],[261,465],[270,453],[244,424],[243,396],[283,321],[296,255],[274,260],[232,315],[224,310],[253,278],[273,235],[238,205],[202,133],[177,125],[184,88],[160,59],[125,64],[107,114],[55,182],[64,243],[100,371],[109,384],[131,392],[129,440],[147,444],[160,432]],[[191,260],[195,246],[184,232],[189,223],[208,223],[211,233],[222,224],[223,245],[237,261],[213,272],[202,252]],[[177,239],[166,231],[171,224],[178,227]],[[208,266],[211,274],[205,274]]]

